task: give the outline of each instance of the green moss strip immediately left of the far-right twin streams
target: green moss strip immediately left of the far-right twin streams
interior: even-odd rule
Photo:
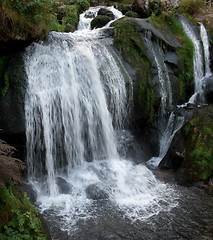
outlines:
[[[166,38],[167,34],[164,30],[170,29],[182,43],[181,47],[176,48],[176,53],[180,59],[178,71],[179,101],[185,102],[192,92],[194,45],[185,34],[182,24],[177,21],[173,14],[162,14],[159,17],[152,16],[150,19]]]

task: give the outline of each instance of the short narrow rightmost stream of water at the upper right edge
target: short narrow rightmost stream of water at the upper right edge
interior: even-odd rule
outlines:
[[[203,42],[203,48],[204,48],[204,59],[205,59],[205,77],[208,77],[211,75],[210,70],[210,52],[209,52],[209,40],[208,40],[208,34],[206,32],[206,29],[203,25],[203,23],[200,23],[200,37]]]

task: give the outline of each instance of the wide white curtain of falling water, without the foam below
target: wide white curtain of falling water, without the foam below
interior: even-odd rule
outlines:
[[[47,171],[50,194],[57,193],[54,179],[61,167],[69,174],[85,161],[118,158],[109,110],[118,129],[128,105],[125,79],[104,45],[92,41],[70,46],[64,38],[55,42],[57,35],[50,35],[47,45],[31,47],[26,59],[29,176]],[[40,159],[38,148],[43,151]],[[44,155],[46,166],[37,166]]]

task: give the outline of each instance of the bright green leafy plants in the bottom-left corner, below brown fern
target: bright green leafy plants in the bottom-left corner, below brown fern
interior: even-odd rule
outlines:
[[[42,233],[38,211],[26,195],[22,196],[20,192],[15,192],[14,186],[0,188],[0,212],[1,216],[7,216],[5,224],[0,226],[0,239],[47,239],[47,236]]]

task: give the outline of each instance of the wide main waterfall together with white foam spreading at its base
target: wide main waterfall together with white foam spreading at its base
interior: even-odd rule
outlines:
[[[130,219],[176,204],[143,164],[119,156],[132,86],[104,36],[101,29],[51,33],[25,54],[29,181],[41,211],[67,232],[100,214],[94,200]]]

